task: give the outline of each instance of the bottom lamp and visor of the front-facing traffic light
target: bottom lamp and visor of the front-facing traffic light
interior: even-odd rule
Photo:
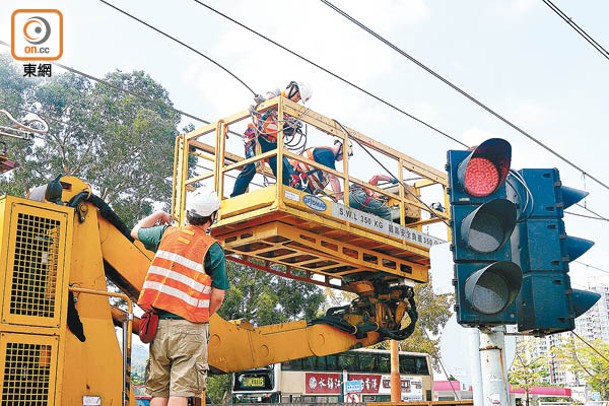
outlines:
[[[465,282],[465,297],[482,314],[497,314],[518,296],[522,271],[511,261],[495,262],[474,272]]]

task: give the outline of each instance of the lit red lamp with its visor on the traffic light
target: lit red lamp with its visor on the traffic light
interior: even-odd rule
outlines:
[[[512,147],[501,138],[491,138],[459,164],[459,181],[465,192],[474,197],[494,193],[510,171]]]

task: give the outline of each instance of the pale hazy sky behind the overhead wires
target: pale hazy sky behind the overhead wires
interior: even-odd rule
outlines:
[[[283,87],[293,79],[308,81],[314,89],[312,109],[438,169],[444,167],[446,150],[461,148],[194,1],[111,3],[218,61],[258,92]],[[205,3],[468,145],[489,137],[507,139],[514,149],[514,168],[559,168],[565,184],[591,193],[587,207],[609,218],[604,205],[609,190],[321,1]],[[543,1],[350,0],[334,4],[609,184],[605,138],[609,135],[605,119],[609,60]],[[604,18],[609,15],[609,3],[557,0],[555,4],[609,47]],[[176,107],[209,121],[251,104],[249,91],[225,72],[101,2],[4,1],[0,39],[5,42],[10,42],[10,14],[18,8],[62,11],[64,55],[60,62],[65,65],[98,77],[114,69],[145,70],[168,89]],[[354,160],[358,158],[355,152]],[[361,162],[362,173],[369,170]],[[609,241],[603,238],[607,222],[575,216],[565,220],[569,234],[596,242],[581,262],[609,270],[605,266]],[[587,275],[606,275],[580,264],[572,264],[571,269],[575,284],[582,287]]]

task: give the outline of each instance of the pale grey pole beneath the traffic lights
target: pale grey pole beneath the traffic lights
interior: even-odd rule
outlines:
[[[508,404],[504,347],[505,326],[480,330],[480,371],[484,406]]]

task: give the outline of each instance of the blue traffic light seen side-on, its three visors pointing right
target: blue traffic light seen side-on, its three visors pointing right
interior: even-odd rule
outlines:
[[[562,186],[557,169],[521,169],[514,190],[523,217],[512,239],[523,272],[518,331],[547,335],[575,328],[575,319],[600,298],[571,288],[569,262],[594,243],[567,236],[564,209],[588,193]]]

